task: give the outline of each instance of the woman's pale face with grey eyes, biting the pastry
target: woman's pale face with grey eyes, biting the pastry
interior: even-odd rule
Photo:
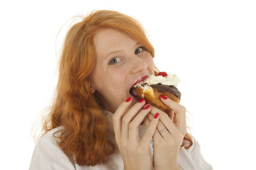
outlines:
[[[119,30],[99,30],[93,42],[96,65],[92,72],[92,91],[105,109],[114,112],[131,96],[129,89],[139,77],[154,74],[154,62],[140,42]]]

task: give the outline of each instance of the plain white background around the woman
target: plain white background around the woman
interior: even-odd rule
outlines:
[[[53,96],[67,21],[95,9],[142,23],[157,67],[181,79],[181,104],[206,161],[255,169],[256,6],[247,0],[1,1],[0,169],[28,169],[31,129]]]

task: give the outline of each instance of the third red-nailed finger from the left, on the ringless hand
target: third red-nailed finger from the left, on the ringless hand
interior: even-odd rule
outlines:
[[[129,123],[129,140],[132,142],[137,142],[139,140],[139,133],[138,128],[139,125],[142,124],[142,121],[146,117],[146,115],[149,114],[151,111],[151,106],[146,106],[142,111],[140,111],[132,120],[131,123]]]

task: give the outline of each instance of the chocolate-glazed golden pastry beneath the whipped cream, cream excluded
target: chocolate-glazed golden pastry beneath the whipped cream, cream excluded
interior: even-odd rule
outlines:
[[[132,87],[130,89],[130,94],[136,98],[144,98],[147,103],[159,108],[161,111],[170,111],[170,108],[161,101],[161,95],[167,96],[177,103],[181,100],[181,92],[178,91],[176,86],[153,84],[150,85],[150,87],[151,89],[146,90],[143,89],[143,86],[137,86],[136,88]]]

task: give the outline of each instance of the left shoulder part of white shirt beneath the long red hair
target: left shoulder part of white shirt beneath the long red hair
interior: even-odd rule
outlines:
[[[31,165],[29,170],[105,170],[105,169],[123,169],[122,157],[116,152],[110,157],[107,164],[98,164],[96,166],[80,166],[75,164],[73,159],[69,159],[58,146],[58,136],[63,132],[63,127],[58,127],[47,132],[36,143],[33,151]],[[121,167],[121,168],[120,168]]]

